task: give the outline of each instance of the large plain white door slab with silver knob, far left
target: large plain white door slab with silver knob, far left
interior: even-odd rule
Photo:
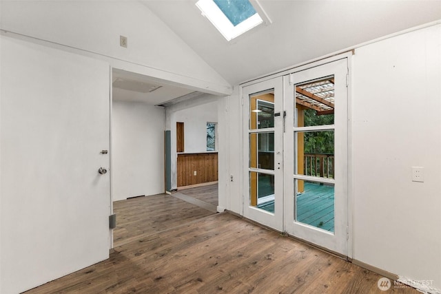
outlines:
[[[0,293],[109,256],[110,67],[0,36]]]

